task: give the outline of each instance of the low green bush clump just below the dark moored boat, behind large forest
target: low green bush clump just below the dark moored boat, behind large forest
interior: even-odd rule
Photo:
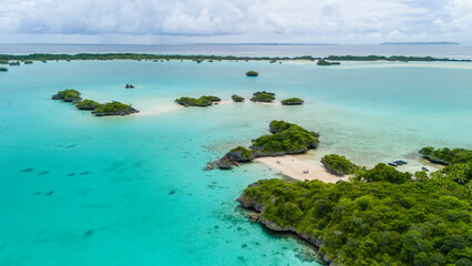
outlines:
[[[371,170],[361,170],[356,173],[356,180],[365,182],[389,182],[402,184],[411,181],[410,173],[397,171],[393,166],[380,163]]]

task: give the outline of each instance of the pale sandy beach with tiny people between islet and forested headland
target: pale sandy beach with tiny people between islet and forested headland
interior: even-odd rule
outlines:
[[[279,157],[259,157],[255,160],[256,162],[267,165],[273,171],[278,171],[291,178],[295,180],[319,180],[325,183],[336,183],[339,180],[347,181],[348,178],[339,177],[326,172],[321,163],[311,163],[305,162],[299,156],[279,156]],[[277,161],[279,163],[277,163]],[[307,174],[304,174],[304,171],[308,170]]]

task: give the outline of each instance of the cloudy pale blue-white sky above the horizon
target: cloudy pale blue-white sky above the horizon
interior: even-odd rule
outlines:
[[[472,0],[0,0],[0,43],[456,41]]]

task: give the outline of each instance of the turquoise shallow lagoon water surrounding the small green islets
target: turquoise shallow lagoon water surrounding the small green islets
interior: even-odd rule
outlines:
[[[246,78],[248,70],[260,75]],[[267,233],[235,202],[248,184],[283,176],[260,164],[206,172],[206,163],[277,119],[321,134],[307,160],[335,152],[419,170],[424,145],[472,147],[471,73],[466,63],[10,66],[0,73],[0,265],[317,265],[312,248]],[[95,117],[50,100],[63,89],[142,112]],[[229,101],[259,90],[306,104]],[[224,102],[172,103],[202,94]]]

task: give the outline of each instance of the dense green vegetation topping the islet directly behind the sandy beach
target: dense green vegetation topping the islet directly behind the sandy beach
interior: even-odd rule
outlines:
[[[271,135],[256,139],[250,146],[256,156],[305,153],[318,146],[318,134],[284,121],[270,123]]]

